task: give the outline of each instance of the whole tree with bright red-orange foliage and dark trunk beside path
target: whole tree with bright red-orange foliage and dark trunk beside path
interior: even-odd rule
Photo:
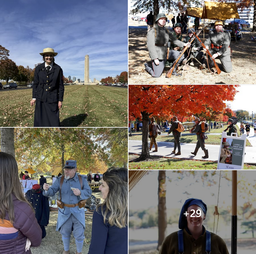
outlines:
[[[142,153],[138,160],[150,158],[148,122],[151,115],[191,116],[224,111],[224,101],[233,100],[239,85],[130,85],[129,117],[143,120]],[[211,109],[211,110],[209,110]]]

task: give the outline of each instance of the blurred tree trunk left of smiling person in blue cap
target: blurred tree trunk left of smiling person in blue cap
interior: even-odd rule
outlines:
[[[161,245],[166,236],[167,216],[166,216],[166,185],[165,185],[165,170],[159,170],[158,175],[158,246]]]

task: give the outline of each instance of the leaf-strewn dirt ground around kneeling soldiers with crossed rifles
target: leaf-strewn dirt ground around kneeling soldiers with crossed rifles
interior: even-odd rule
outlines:
[[[136,21],[137,22],[137,21]],[[144,23],[144,22],[141,22]],[[143,24],[145,26],[145,23]],[[152,78],[146,72],[144,63],[150,63],[147,49],[147,29],[129,21],[129,84],[255,84],[256,83],[256,42],[250,40],[251,28],[242,29],[242,40],[231,41],[230,47],[233,50],[231,73],[222,71],[219,59],[216,63],[222,71],[219,75],[210,74],[206,70],[199,70],[191,66],[191,70],[183,71],[182,77],[165,78],[169,68],[165,68],[160,78]],[[199,36],[202,42],[205,41],[203,35]],[[207,65],[207,64],[206,64]]]

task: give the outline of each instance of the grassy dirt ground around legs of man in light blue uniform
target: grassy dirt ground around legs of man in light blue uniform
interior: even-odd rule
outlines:
[[[101,192],[92,192],[96,198],[101,198]],[[103,202],[103,199],[101,199]],[[61,234],[56,231],[58,212],[50,211],[49,224],[46,227],[46,237],[42,239],[41,245],[39,247],[31,247],[32,254],[62,254],[63,253],[63,243]],[[85,219],[85,239],[84,246],[82,249],[83,254],[87,254],[89,251],[91,243],[91,226],[92,226],[92,216],[87,216]],[[76,253],[76,244],[73,234],[70,239],[70,254]]]

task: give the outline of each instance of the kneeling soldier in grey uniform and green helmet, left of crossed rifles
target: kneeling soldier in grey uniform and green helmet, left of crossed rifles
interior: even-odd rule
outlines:
[[[145,63],[145,69],[149,72],[152,77],[159,78],[165,68],[165,62],[167,59],[167,42],[170,41],[177,45],[178,47],[186,47],[190,45],[190,43],[184,43],[180,40],[177,40],[168,29],[165,29],[165,23],[167,21],[167,17],[165,14],[160,13],[156,17],[156,27],[151,28],[147,35],[147,46],[149,51],[149,56],[152,59],[153,69]],[[173,62],[178,56],[180,52],[176,50],[169,50],[168,61]],[[178,64],[184,60],[184,56],[182,56]],[[172,75],[181,76],[176,72],[176,67],[174,68]]]

